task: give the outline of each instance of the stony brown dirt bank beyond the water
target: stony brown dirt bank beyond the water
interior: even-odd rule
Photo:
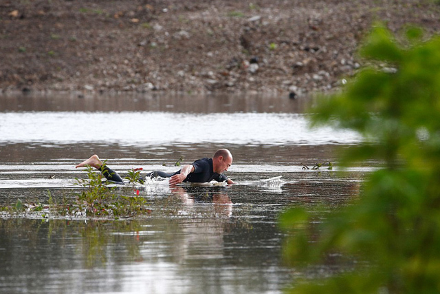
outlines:
[[[360,66],[375,20],[440,28],[434,0],[3,0],[0,89],[305,94]]]

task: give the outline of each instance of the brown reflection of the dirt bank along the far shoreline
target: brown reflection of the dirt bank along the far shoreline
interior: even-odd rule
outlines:
[[[265,95],[170,95],[130,94],[10,94],[0,95],[0,112],[283,112],[300,113],[309,104],[307,99]]]

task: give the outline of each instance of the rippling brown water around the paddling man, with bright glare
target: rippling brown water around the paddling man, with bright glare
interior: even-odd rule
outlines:
[[[356,134],[308,129],[305,101],[265,96],[0,97],[0,202],[47,203],[78,191],[74,168],[99,154],[122,176],[131,167],[175,171],[174,163],[227,147],[230,187],[140,189],[153,213],[132,220],[3,218],[1,293],[281,293],[287,267],[279,214],[318,209],[322,220],[359,191],[371,165],[342,171],[337,150]],[[335,168],[304,170],[316,162]],[[281,180],[256,180],[282,176]],[[310,272],[312,271],[312,273]]]

